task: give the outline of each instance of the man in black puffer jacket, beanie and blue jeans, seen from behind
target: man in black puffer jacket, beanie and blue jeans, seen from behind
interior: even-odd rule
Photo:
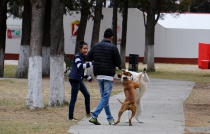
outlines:
[[[87,61],[94,61],[93,73],[96,76],[101,93],[101,101],[92,113],[89,122],[95,125],[101,125],[98,121],[98,115],[105,110],[109,125],[114,124],[109,108],[109,97],[113,88],[113,80],[116,67],[120,68],[121,58],[117,47],[111,43],[113,32],[110,28],[104,32],[104,39],[94,44],[87,54]]]

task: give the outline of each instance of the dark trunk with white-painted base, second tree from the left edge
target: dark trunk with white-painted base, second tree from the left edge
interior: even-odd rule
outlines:
[[[28,78],[30,34],[31,34],[31,3],[28,0],[24,0],[22,38],[20,44],[18,68],[15,74],[16,78]]]

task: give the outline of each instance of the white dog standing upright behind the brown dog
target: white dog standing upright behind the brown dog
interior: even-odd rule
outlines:
[[[147,90],[147,82],[150,82],[150,79],[146,73],[146,68],[144,68],[143,72],[134,72],[134,71],[128,71],[128,70],[125,70],[125,69],[122,69],[123,71],[127,71],[127,72],[130,72],[132,74],[131,80],[137,82],[138,81],[138,76],[140,74],[142,74],[142,77],[141,77],[141,81],[140,81],[140,88],[136,88],[136,104],[137,104],[137,110],[136,110],[136,115],[135,115],[135,118],[136,120],[139,122],[139,123],[143,123],[139,120],[139,115],[141,114],[142,110],[143,110],[143,105],[142,105],[142,102],[141,102],[141,98],[142,96],[144,95],[145,91]],[[121,78],[121,82],[123,82],[123,77],[121,77],[122,74],[118,74],[118,77]],[[128,119],[126,120],[126,122],[128,122],[129,118],[131,116],[131,112],[128,111]]]

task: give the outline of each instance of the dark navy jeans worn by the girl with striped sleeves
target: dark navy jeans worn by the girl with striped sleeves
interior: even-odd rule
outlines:
[[[71,84],[71,99],[69,104],[69,119],[73,119],[74,117],[74,107],[75,103],[77,101],[77,95],[79,90],[82,92],[82,94],[85,97],[85,110],[86,114],[90,114],[90,94],[84,84],[83,81],[77,81],[74,79],[69,79],[69,82]]]

